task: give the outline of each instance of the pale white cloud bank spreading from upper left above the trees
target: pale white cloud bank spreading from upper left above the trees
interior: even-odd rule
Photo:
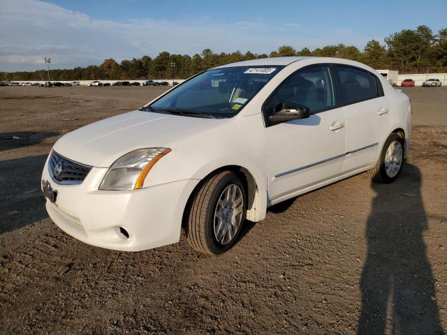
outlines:
[[[1,0],[0,70],[43,68],[45,57],[51,57],[52,68],[73,68],[100,64],[110,57],[117,61],[145,54],[154,57],[161,51],[195,54],[210,48],[261,53],[285,44],[299,50],[344,42],[340,41],[342,30],[316,31],[299,24],[275,26],[262,18],[236,23],[214,22],[209,17],[114,22],[38,0]],[[358,46],[365,43],[351,32],[349,40]]]

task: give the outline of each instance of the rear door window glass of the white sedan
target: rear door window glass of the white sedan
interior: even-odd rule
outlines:
[[[367,71],[336,66],[340,79],[342,105],[349,105],[380,96],[376,77]]]

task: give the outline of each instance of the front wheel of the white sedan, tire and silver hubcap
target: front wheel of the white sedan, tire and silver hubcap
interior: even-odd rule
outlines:
[[[230,194],[226,193],[227,191],[233,194],[232,190],[236,190],[234,194],[237,202],[234,203],[239,204],[233,211],[232,209],[223,209],[221,205],[226,202],[221,200],[221,198]],[[235,172],[222,171],[204,179],[193,194],[191,204],[186,213],[187,221],[185,228],[189,244],[196,251],[210,255],[219,255],[230,249],[237,241],[245,220],[247,208],[246,194],[244,181]],[[240,197],[242,197],[242,213],[240,213]],[[219,202],[219,200],[221,201]],[[229,204],[229,202],[226,202],[226,204]],[[225,211],[225,214],[222,214],[223,211]],[[219,214],[217,214],[218,212]],[[221,215],[225,215],[224,217],[228,218],[230,223],[225,221]],[[219,234],[219,232],[224,233]],[[222,238],[218,240],[218,236]],[[227,241],[228,238],[229,240]]]

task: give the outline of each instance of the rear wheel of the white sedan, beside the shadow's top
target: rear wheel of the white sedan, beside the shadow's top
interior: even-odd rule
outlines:
[[[388,149],[392,150],[392,148],[390,148],[392,145],[400,145],[400,149],[402,149],[400,157],[398,154],[399,147],[397,147],[391,163],[386,163],[386,160],[389,161],[390,158],[390,156],[387,156],[387,151]],[[400,172],[402,171],[402,166],[404,165],[404,152],[405,147],[402,137],[394,133],[388,136],[385,144],[383,144],[379,161],[374,168],[369,170],[372,180],[381,184],[390,184],[395,181],[399,177]]]

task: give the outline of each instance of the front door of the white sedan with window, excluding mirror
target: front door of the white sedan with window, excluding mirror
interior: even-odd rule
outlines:
[[[285,102],[309,107],[311,116],[282,123],[269,121],[275,107]],[[342,174],[346,121],[343,108],[336,105],[329,66],[298,70],[265,102],[271,203]]]

